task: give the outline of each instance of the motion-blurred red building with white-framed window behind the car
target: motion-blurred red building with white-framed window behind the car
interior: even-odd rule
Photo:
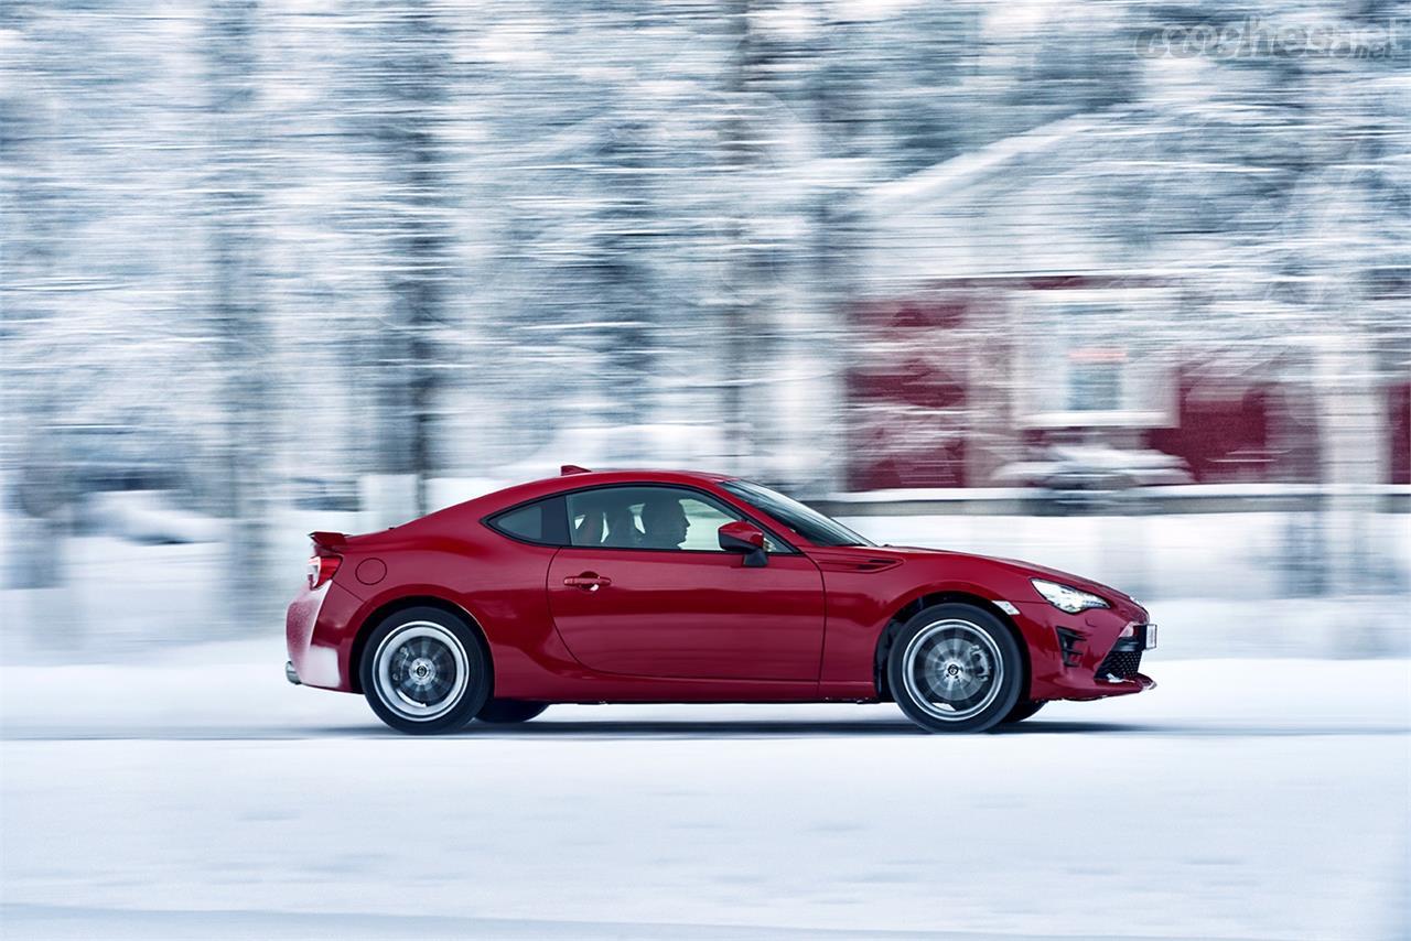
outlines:
[[[1084,463],[1118,485],[1316,482],[1311,361],[1189,340],[1188,303],[1173,277],[1033,275],[856,305],[849,490],[1033,485]],[[1405,482],[1407,384],[1387,395],[1386,478]]]

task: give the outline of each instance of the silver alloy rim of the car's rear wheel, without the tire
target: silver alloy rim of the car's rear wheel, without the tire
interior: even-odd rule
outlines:
[[[467,673],[466,648],[453,631],[432,621],[411,621],[378,645],[373,677],[387,708],[423,722],[460,703]]]

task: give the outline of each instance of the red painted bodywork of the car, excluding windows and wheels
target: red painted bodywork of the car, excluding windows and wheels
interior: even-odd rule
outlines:
[[[435,600],[481,629],[494,696],[546,703],[787,703],[878,698],[888,624],[931,595],[965,595],[1007,615],[1029,659],[1029,697],[1086,700],[1147,688],[1094,673],[1134,601],[1105,585],[1027,563],[931,549],[813,546],[720,487],[728,478],[674,471],[574,473],[512,487],[380,533],[347,536],[333,580],[289,605],[289,659],[309,686],[358,691],[358,638],[389,605]],[[746,567],[727,552],[543,546],[487,525],[499,511],[607,484],[667,484],[708,492],[793,552]],[[377,560],[385,574],[364,584]],[[380,570],[380,569],[378,569]],[[1031,577],[1108,600],[1067,615]],[[567,584],[564,580],[570,580]],[[996,609],[998,611],[998,609]],[[1082,635],[1064,666],[1055,628]]]

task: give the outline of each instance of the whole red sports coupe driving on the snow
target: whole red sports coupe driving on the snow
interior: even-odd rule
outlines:
[[[1156,625],[1105,585],[878,546],[759,484],[680,471],[521,484],[364,536],[316,532],[291,683],[395,729],[553,703],[875,703],[979,732],[1151,688]]]

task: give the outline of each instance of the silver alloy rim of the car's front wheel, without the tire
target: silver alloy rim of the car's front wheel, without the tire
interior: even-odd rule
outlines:
[[[903,681],[917,708],[944,722],[976,715],[999,696],[999,646],[969,621],[947,619],[916,632],[902,653]]]

